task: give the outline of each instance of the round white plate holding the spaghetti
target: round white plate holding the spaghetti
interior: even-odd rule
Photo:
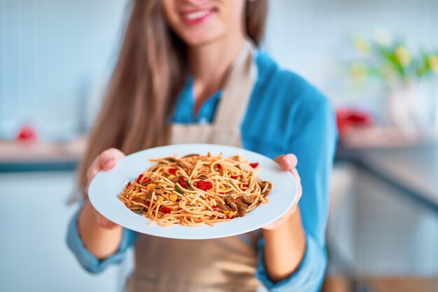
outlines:
[[[174,224],[170,227],[161,227],[156,223],[148,225],[150,219],[129,210],[118,199],[118,194],[123,190],[127,181],[135,179],[139,174],[150,168],[154,162],[150,158],[171,156],[178,153],[180,157],[190,153],[206,155],[222,153],[225,158],[240,154],[250,162],[259,162],[261,167],[257,177],[263,181],[271,181],[272,190],[267,198],[269,203],[260,204],[244,217],[234,218],[231,221],[216,223],[214,227],[202,225],[188,227]],[[250,232],[262,228],[285,214],[297,198],[297,182],[290,172],[281,170],[274,160],[264,155],[235,148],[214,144],[177,144],[162,146],[139,151],[127,155],[117,162],[117,165],[108,172],[99,172],[90,183],[88,196],[94,208],[100,214],[114,223],[137,232],[160,237],[175,239],[211,239],[227,237]]]

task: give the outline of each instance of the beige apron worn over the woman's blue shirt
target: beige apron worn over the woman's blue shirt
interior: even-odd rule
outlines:
[[[210,143],[241,146],[239,127],[246,113],[257,67],[246,41],[235,60],[216,118],[208,125],[171,125],[170,144]],[[166,239],[140,234],[129,292],[254,292],[260,231],[220,239]]]

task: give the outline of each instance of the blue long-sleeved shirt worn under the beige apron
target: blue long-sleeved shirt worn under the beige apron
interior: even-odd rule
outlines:
[[[258,244],[257,278],[271,292],[319,291],[323,283],[327,254],[325,228],[329,207],[329,177],[337,143],[334,111],[330,102],[290,71],[280,69],[261,52],[255,57],[258,76],[241,124],[243,148],[270,158],[294,153],[302,178],[303,195],[299,201],[306,232],[306,252],[290,277],[277,283],[269,280],[263,261],[264,241]],[[193,118],[193,81],[188,78],[176,104],[174,123],[211,123],[222,92],[216,92]],[[101,272],[108,265],[120,263],[135,242],[136,232],[124,229],[118,251],[98,260],[83,245],[77,227],[78,214],[69,225],[67,243],[83,267]]]

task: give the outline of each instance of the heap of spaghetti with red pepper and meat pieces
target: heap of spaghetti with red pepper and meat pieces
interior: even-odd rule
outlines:
[[[129,181],[119,198],[161,226],[214,225],[245,216],[268,202],[272,188],[271,182],[257,180],[258,163],[240,155],[190,154],[150,161],[156,164]]]

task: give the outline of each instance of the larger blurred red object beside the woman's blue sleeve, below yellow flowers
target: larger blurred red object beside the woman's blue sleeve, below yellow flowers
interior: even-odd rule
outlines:
[[[369,127],[373,125],[372,117],[369,113],[358,109],[337,109],[336,121],[339,137],[344,137],[348,131],[353,130],[355,127]]]

